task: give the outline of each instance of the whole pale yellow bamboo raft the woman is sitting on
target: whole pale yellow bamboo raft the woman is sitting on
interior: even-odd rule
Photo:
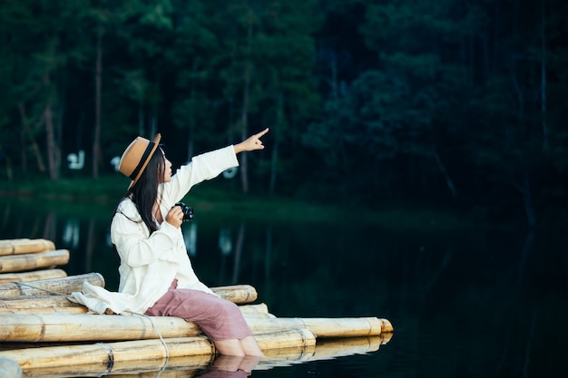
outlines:
[[[57,267],[68,260],[69,251],[55,249],[49,240],[0,240],[0,376],[177,376],[180,370],[193,376],[218,363],[214,344],[191,322],[94,315],[70,301],[83,282],[105,283],[98,273],[67,276]],[[256,370],[375,352],[394,331],[387,319],[377,317],[277,317],[266,304],[254,303],[253,286],[211,289],[239,305],[265,354]]]

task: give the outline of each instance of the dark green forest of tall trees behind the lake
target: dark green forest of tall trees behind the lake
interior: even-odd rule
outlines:
[[[240,161],[244,193],[565,223],[567,11],[2,0],[0,178],[112,175],[156,132],[182,163],[269,127],[267,149]]]

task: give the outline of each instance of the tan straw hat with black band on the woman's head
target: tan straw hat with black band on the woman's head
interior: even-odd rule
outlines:
[[[118,170],[120,170],[124,176],[132,179],[132,183],[128,189],[131,189],[142,176],[142,172],[146,169],[148,161],[150,161],[153,153],[158,148],[161,139],[162,135],[160,133],[156,134],[156,136],[152,138],[152,141],[137,137],[122,153]]]

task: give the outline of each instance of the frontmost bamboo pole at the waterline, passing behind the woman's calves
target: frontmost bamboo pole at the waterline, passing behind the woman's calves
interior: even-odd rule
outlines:
[[[260,349],[271,349],[315,345],[316,338],[307,329],[290,329],[255,334]],[[165,345],[164,345],[165,344]],[[167,351],[166,351],[167,345]],[[0,352],[0,357],[14,360],[22,370],[66,368],[80,371],[83,366],[97,366],[103,374],[121,371],[122,365],[132,362],[166,363],[166,358],[215,354],[215,346],[205,336],[137,340],[117,343],[48,346]]]

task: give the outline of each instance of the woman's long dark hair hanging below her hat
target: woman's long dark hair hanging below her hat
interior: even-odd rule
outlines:
[[[151,235],[152,232],[158,229],[156,222],[153,220],[152,208],[158,199],[158,186],[162,183],[164,170],[165,163],[162,148],[156,149],[150,161],[148,161],[146,169],[142,172],[140,179],[122,197],[122,199],[132,199]]]

